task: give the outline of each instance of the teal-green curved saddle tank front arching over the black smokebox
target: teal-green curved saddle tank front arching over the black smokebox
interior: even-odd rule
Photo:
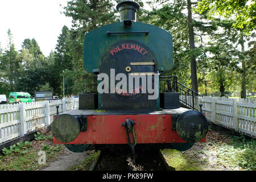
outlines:
[[[115,34],[107,35],[106,32],[132,32],[149,31],[144,34]],[[155,55],[158,68],[168,72],[174,66],[172,36],[162,28],[151,24],[134,22],[131,28],[125,28],[123,22],[108,24],[90,31],[84,36],[84,69],[93,72],[100,67],[101,56],[114,43],[135,40],[146,45]]]

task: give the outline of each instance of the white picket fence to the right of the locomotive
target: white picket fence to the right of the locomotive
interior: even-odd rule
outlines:
[[[256,137],[256,100],[226,97],[199,97],[207,120]]]

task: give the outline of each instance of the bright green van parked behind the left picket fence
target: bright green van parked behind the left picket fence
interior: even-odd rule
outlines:
[[[27,92],[11,92],[9,96],[10,103],[20,103],[20,102],[33,102],[35,99],[31,94]]]

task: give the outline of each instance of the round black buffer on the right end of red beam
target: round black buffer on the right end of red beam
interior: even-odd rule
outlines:
[[[199,111],[185,111],[177,119],[176,131],[179,137],[185,142],[200,142],[207,135],[208,122]]]

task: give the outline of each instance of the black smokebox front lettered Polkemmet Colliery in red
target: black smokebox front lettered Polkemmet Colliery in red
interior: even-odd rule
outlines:
[[[130,65],[133,63],[150,62],[151,65]],[[108,49],[106,49],[104,55],[101,57],[99,72],[105,73],[109,76],[108,78],[108,93],[102,93],[101,96],[101,109],[104,110],[156,110],[158,109],[157,100],[148,100],[148,96],[152,94],[143,93],[146,90],[142,89],[142,85],[146,86],[145,81],[140,81],[139,85],[129,85],[131,73],[144,73],[152,72],[157,73],[155,70],[156,59],[152,51],[144,44],[134,41],[126,40],[114,43]],[[131,66],[131,72],[126,72],[125,68]],[[114,69],[114,72],[113,72]],[[111,71],[112,70],[112,73]],[[115,87],[119,80],[115,80],[113,75],[122,73],[126,76],[127,88],[120,89]],[[105,79],[105,78],[104,78]],[[132,78],[133,79],[133,78]],[[152,78],[154,79],[154,78]],[[114,81],[113,81],[114,80]],[[115,86],[111,86],[111,83]],[[155,86],[155,85],[153,85]],[[156,86],[155,86],[156,87]],[[134,89],[134,93],[131,94]]]

